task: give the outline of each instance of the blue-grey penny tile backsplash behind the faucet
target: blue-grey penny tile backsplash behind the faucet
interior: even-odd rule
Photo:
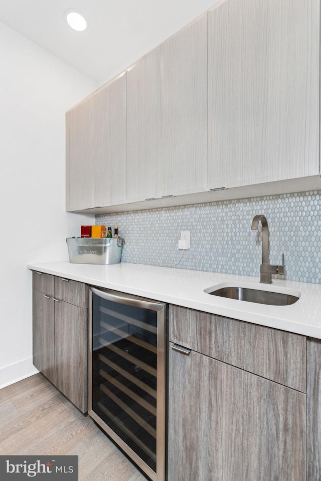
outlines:
[[[262,236],[254,215],[269,224],[270,264],[285,259],[290,281],[321,282],[321,191],[226,200],[152,210],[100,214],[96,224],[118,224],[126,244],[122,262],[258,277]],[[178,249],[190,230],[191,249]]]

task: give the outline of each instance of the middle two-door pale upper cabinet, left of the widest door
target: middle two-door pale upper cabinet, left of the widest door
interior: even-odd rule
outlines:
[[[207,190],[207,13],[127,71],[127,202]]]

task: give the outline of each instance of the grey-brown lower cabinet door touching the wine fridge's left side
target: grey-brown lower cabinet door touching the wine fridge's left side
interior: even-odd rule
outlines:
[[[55,302],[56,386],[87,411],[87,309]]]

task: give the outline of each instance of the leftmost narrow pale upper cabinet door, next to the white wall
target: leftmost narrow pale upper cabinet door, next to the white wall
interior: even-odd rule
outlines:
[[[94,207],[94,96],[66,113],[66,210]]]

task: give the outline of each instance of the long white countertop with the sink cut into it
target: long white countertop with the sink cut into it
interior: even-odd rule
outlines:
[[[252,322],[321,339],[321,285],[274,279],[271,285],[259,278],[203,271],[190,271],[142,264],[70,264],[54,262],[30,264],[28,268],[93,286],[114,289],[137,296],[199,311]],[[204,292],[217,284],[242,283],[256,289],[300,293],[289,306],[268,306],[225,299]],[[214,290],[214,289],[213,289]]]

